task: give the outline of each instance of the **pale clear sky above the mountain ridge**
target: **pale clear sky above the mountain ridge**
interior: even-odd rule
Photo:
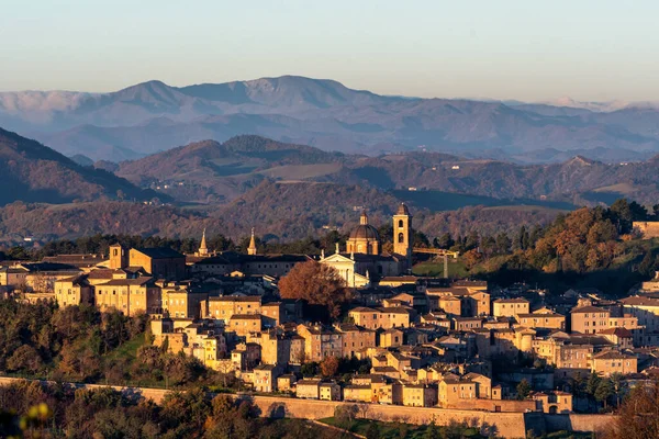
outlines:
[[[0,0],[0,90],[265,76],[378,93],[659,100],[659,1]]]

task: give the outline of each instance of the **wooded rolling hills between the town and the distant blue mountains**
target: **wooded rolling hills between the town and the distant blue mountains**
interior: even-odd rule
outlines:
[[[125,161],[116,173],[180,202],[201,204],[230,203],[269,180],[394,191],[396,199],[431,211],[478,204],[571,209],[619,196],[655,204],[657,160],[610,165],[577,156],[559,164],[517,165],[424,151],[370,157],[238,136]]]

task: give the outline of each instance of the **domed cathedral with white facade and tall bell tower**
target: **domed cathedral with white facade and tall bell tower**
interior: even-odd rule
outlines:
[[[350,288],[366,288],[372,281],[405,273],[412,268],[412,216],[403,203],[393,215],[393,252],[382,251],[378,229],[368,224],[361,213],[359,225],[350,232],[346,251],[338,244],[334,255],[321,257],[320,262],[333,267]]]

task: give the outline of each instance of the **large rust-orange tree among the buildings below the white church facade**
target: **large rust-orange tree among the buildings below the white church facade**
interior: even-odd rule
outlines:
[[[313,260],[298,263],[281,278],[279,293],[283,299],[303,299],[312,305],[325,306],[332,317],[337,317],[342,305],[353,299],[338,271]]]

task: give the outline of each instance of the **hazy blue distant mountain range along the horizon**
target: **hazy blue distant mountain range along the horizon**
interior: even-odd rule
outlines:
[[[517,162],[577,154],[606,162],[659,153],[651,103],[550,103],[387,97],[294,76],[111,93],[0,93],[0,126],[67,156],[122,161],[242,134],[377,156],[428,150]]]

